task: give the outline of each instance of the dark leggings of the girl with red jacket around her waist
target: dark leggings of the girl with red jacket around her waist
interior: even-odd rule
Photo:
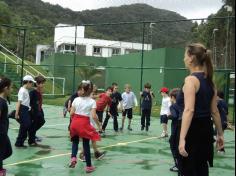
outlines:
[[[72,140],[71,157],[77,157],[78,148],[79,148],[79,138],[75,138]],[[87,167],[91,167],[92,162],[91,162],[89,139],[83,138],[83,148],[84,148],[84,156],[85,156],[85,160],[86,160],[86,165],[87,165]]]

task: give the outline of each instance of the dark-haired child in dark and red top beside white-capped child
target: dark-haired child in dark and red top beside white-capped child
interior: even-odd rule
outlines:
[[[30,91],[30,107],[31,107],[31,127],[29,130],[29,145],[35,146],[36,132],[45,124],[44,112],[42,108],[43,104],[43,88],[46,79],[43,76],[35,77],[36,88]]]

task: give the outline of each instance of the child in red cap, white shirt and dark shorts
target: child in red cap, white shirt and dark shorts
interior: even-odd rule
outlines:
[[[170,97],[168,96],[169,90],[166,87],[161,88],[161,95],[162,95],[162,104],[161,104],[161,124],[163,127],[163,132],[161,134],[162,138],[168,137],[167,131],[167,124],[168,124],[168,116],[170,115],[170,106],[171,101]]]

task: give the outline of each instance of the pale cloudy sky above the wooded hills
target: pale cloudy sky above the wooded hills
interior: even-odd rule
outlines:
[[[153,7],[179,13],[188,19],[207,18],[223,5],[222,0],[42,0],[74,11],[145,3]]]

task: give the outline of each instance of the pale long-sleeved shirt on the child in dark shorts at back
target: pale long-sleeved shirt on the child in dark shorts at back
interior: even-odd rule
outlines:
[[[121,97],[124,109],[130,109],[137,105],[137,98],[133,92],[124,92]]]

